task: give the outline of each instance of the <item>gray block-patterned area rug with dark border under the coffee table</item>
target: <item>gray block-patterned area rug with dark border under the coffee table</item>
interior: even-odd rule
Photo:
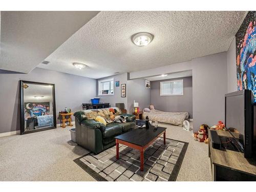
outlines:
[[[144,170],[140,170],[140,152],[119,144],[97,155],[89,153],[74,161],[98,181],[175,181],[188,143],[158,138],[144,152]]]

